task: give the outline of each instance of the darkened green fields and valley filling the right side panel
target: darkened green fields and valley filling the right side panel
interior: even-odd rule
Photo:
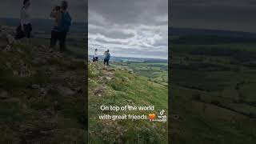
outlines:
[[[207,44],[205,39],[172,40],[170,101],[178,118],[171,120],[170,141],[254,143],[256,42]]]

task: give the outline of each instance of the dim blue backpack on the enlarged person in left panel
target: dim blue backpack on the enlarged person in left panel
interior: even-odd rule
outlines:
[[[71,26],[71,20],[69,13],[62,13],[62,21],[60,23],[60,26],[58,26],[58,30],[61,32],[69,32],[70,26]]]

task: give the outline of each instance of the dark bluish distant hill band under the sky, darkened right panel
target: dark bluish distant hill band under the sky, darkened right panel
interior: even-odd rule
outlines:
[[[204,30],[190,28],[169,28],[173,44],[213,45],[230,42],[256,42],[256,34],[228,30]],[[172,38],[175,37],[175,38]]]

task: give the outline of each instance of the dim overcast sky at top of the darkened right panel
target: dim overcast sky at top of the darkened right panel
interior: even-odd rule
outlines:
[[[256,32],[255,0],[171,0],[170,26]]]

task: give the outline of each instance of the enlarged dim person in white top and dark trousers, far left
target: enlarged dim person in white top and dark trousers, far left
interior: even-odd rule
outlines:
[[[32,25],[30,23],[30,0],[24,0],[20,13],[21,22],[16,29],[15,39],[30,38]]]

